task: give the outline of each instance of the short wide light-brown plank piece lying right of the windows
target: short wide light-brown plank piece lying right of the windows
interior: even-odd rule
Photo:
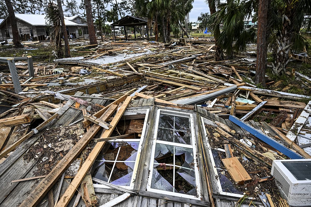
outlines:
[[[222,159],[222,163],[235,182],[249,181],[252,179],[237,157]]]

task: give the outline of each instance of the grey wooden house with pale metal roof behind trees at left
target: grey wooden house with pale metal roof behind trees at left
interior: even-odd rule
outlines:
[[[15,17],[21,41],[46,40],[50,35],[50,31],[52,31],[52,26],[48,24],[45,18],[46,15],[15,14]],[[67,17],[65,17],[65,24],[68,38],[79,38],[78,27],[81,27],[81,25],[68,20]],[[12,39],[11,20],[8,17],[0,23],[0,30],[2,37],[0,39]]]

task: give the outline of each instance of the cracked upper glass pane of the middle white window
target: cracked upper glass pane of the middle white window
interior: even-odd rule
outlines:
[[[157,139],[191,145],[190,119],[160,114]]]

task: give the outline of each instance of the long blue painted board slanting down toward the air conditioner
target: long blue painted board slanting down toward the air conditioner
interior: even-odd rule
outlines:
[[[268,137],[264,133],[258,131],[257,129],[253,128],[252,126],[246,124],[244,121],[241,121],[240,119],[236,118],[235,116],[230,115],[229,120],[232,121],[234,124],[237,124],[239,127],[244,128],[249,133],[253,134],[255,137],[260,139],[261,141],[265,142],[266,144],[272,146],[276,150],[282,152],[284,155],[289,157],[290,159],[304,159],[303,156],[295,153],[294,151],[291,151],[284,145],[280,144],[279,142],[275,141],[271,137]]]

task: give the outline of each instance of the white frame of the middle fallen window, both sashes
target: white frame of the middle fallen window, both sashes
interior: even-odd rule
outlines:
[[[163,140],[157,140],[156,137],[158,134],[160,113],[189,118],[190,119],[190,130],[191,130],[191,141],[192,141],[191,144],[192,145],[180,144],[180,143],[175,143],[175,142],[167,142],[167,141],[163,141]],[[200,181],[199,181],[200,177],[199,177],[199,171],[198,171],[198,166],[197,166],[197,148],[196,148],[196,139],[195,139],[195,133],[194,133],[193,120],[194,120],[193,114],[191,112],[186,113],[186,112],[177,112],[177,111],[173,111],[173,110],[164,110],[164,109],[158,109],[157,110],[155,132],[154,132],[154,136],[153,136],[153,142],[152,142],[153,144],[152,144],[152,149],[151,149],[151,157],[150,157],[150,165],[149,165],[149,175],[148,175],[148,182],[147,182],[147,187],[146,187],[147,191],[151,191],[151,192],[155,192],[155,193],[161,193],[161,194],[165,194],[165,195],[171,195],[171,196],[178,196],[178,197],[182,197],[182,198],[202,200],[201,185],[200,185]],[[164,191],[164,190],[158,190],[158,189],[151,188],[151,180],[152,180],[153,165],[154,165],[154,156],[155,156],[155,150],[156,150],[156,144],[157,143],[193,149],[194,172],[195,172],[195,176],[196,176],[196,185],[197,185],[198,196],[192,196],[192,195],[187,195],[187,194],[182,194],[182,193],[177,193],[177,192],[170,192],[170,191]]]

